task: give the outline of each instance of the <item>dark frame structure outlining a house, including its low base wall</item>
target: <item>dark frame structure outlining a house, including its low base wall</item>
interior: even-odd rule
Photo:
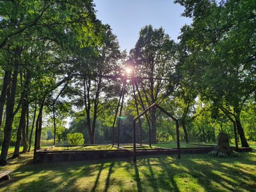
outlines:
[[[135,105],[136,105],[136,113],[137,113],[137,116],[134,118],[134,120],[132,121],[132,131],[133,131],[133,150],[130,150],[129,154],[127,153],[123,153],[123,154],[119,154],[120,156],[133,156],[133,161],[136,162],[136,122],[138,121],[139,122],[139,125],[140,125],[140,146],[142,146],[142,135],[141,135],[141,122],[140,122],[140,118],[141,116],[145,115],[145,117],[147,118],[147,122],[148,122],[148,129],[149,129],[149,145],[151,147],[151,131],[150,131],[150,123],[148,121],[148,116],[147,116],[147,112],[150,111],[150,109],[152,108],[158,108],[160,109],[164,114],[166,114],[167,116],[169,116],[170,118],[172,118],[173,121],[175,121],[175,124],[176,124],[176,136],[177,136],[177,150],[168,150],[168,154],[174,154],[177,152],[177,157],[178,159],[180,159],[180,138],[179,138],[179,120],[177,118],[175,118],[173,115],[171,115],[170,113],[168,113],[165,109],[161,108],[161,106],[159,106],[157,103],[154,103],[152,104],[151,106],[149,106],[147,109],[145,108],[144,104],[143,104],[143,100],[142,100],[142,97],[141,97],[141,93],[140,93],[140,90],[138,88],[138,83],[136,82],[136,80],[143,80],[143,79],[149,79],[149,80],[169,80],[169,79],[164,79],[164,78],[154,78],[154,77],[136,77],[133,75],[127,75],[125,74],[124,76],[119,76],[119,75],[116,75],[116,76],[100,76],[100,75],[97,75],[97,74],[92,74],[92,75],[81,75],[81,76],[95,76],[95,77],[103,77],[103,78],[106,78],[106,79],[121,79],[122,80],[122,90],[121,90],[121,93],[120,93],[120,97],[119,97],[119,100],[118,100],[118,105],[117,105],[117,108],[116,108],[116,113],[115,113],[115,119],[114,119],[114,122],[113,122],[113,146],[115,145],[115,124],[116,124],[116,117],[118,115],[118,111],[119,111],[119,108],[120,108],[120,111],[119,111],[119,116],[122,115],[122,108],[124,106],[124,96],[125,96],[125,88],[127,86],[127,80],[130,79],[131,80],[131,84],[132,84],[132,92],[133,92],[133,97],[134,97],[134,101],[135,101]],[[142,83],[142,82],[141,82]],[[142,88],[144,89],[143,87],[143,84],[141,84]],[[63,90],[67,87],[67,84],[65,84],[65,86],[63,87],[63,89],[61,90],[61,92],[58,94],[58,96],[56,97],[56,99],[54,100],[53,104],[52,104],[52,108],[53,108],[53,117],[54,117],[54,145],[55,145],[55,140],[56,140],[56,122],[55,122],[55,103],[56,103],[56,100],[58,99],[58,97],[61,95],[61,93],[63,92]],[[138,93],[138,97],[140,99],[140,105],[143,109],[143,112],[139,114],[139,109],[138,109],[138,99],[137,99],[137,96],[136,96],[136,91]],[[41,112],[42,113],[42,112]],[[120,147],[120,118],[118,118],[118,140],[117,140],[117,143],[118,143],[118,148]],[[235,127],[234,127],[235,128]],[[35,134],[35,150],[34,150],[34,162],[36,162],[36,154],[39,153],[38,155],[38,159],[39,160],[42,160],[46,157],[47,155],[47,152],[42,152],[42,151],[37,151],[36,148],[37,148],[37,137],[38,137],[38,134],[37,134],[38,130],[37,130],[37,127],[36,127],[36,134]],[[237,136],[236,135],[236,129],[234,129],[234,132],[235,132],[235,137]],[[120,147],[122,148],[122,147]],[[164,148],[161,148],[161,150],[159,151],[160,154],[166,154],[166,153],[163,153],[163,149]],[[237,147],[237,141],[236,141],[236,150],[238,150],[238,147]],[[158,149],[157,149],[158,150]],[[165,148],[166,150],[166,148]],[[196,148],[196,150],[193,151],[193,149],[191,148],[187,148],[187,152],[191,153],[191,152],[209,152],[208,150],[211,150],[211,148]],[[241,150],[241,152],[243,151],[252,151],[252,148],[240,148],[239,150]],[[107,152],[108,150],[102,150],[102,152]],[[118,152],[120,152],[122,150],[118,150]],[[140,149],[138,149],[138,155],[142,155],[142,156],[145,156],[145,155],[151,155],[151,154],[154,154],[154,152],[156,152],[156,150],[149,150],[148,152],[150,153],[147,153],[145,154],[144,152],[143,153],[140,153]],[[152,153],[153,152],[153,153]],[[186,151],[182,150],[182,153],[186,153]],[[80,154],[82,153],[83,156],[80,156],[80,157],[84,157],[84,152],[79,152]],[[51,152],[50,152],[51,154]],[[58,154],[56,152],[52,153],[52,154]],[[67,154],[67,153],[66,153]],[[69,154],[70,156],[73,156],[74,153],[72,154]],[[95,152],[93,151],[90,151],[88,155],[88,158],[92,158],[92,154],[95,154]],[[114,155],[117,156],[117,154],[115,154],[115,152],[113,152]],[[44,156],[45,155],[45,156]],[[76,154],[75,154],[76,155]],[[108,154],[109,155],[109,154]],[[42,156],[42,157],[41,157]],[[86,157],[86,156],[85,156]],[[100,159],[102,158],[102,154],[99,154],[99,157]],[[98,157],[98,158],[99,158]],[[109,156],[106,156],[106,157],[109,157]],[[119,157],[119,156],[118,156]],[[41,158],[41,159],[40,159]],[[71,157],[70,157],[71,158]],[[87,158],[87,157],[86,157]],[[47,158],[46,158],[47,159]],[[52,159],[52,157],[49,157],[49,159]],[[65,158],[67,159],[67,158]],[[77,159],[77,157],[75,157],[74,159]],[[96,158],[97,159],[97,158]],[[39,161],[38,160],[38,161]]]

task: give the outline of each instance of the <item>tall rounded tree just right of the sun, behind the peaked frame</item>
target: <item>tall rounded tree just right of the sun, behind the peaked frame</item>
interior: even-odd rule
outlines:
[[[129,62],[134,67],[135,76],[149,78],[140,83],[147,106],[163,100],[166,81],[153,78],[169,79],[174,73],[175,47],[175,42],[164,33],[163,28],[154,29],[149,25],[141,29],[138,42],[130,51]],[[150,111],[148,118],[152,127],[152,143],[156,143],[156,109]]]

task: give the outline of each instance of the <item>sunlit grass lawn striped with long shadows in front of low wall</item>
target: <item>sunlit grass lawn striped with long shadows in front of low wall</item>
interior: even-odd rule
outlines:
[[[0,191],[255,191],[256,152],[32,164],[33,152],[10,160]]]

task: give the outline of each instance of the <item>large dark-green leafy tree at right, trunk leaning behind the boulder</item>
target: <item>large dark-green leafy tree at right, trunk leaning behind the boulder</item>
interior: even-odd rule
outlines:
[[[183,70],[200,95],[236,122],[242,147],[248,147],[240,115],[255,92],[255,3],[253,1],[175,1],[192,17],[182,28],[180,44],[187,58]],[[230,120],[231,120],[230,119]]]

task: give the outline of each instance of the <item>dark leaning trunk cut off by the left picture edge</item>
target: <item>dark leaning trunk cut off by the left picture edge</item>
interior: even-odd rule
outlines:
[[[3,82],[3,88],[2,88],[1,97],[0,97],[0,128],[3,123],[4,104],[6,101],[7,88],[11,79],[10,74],[11,74],[10,71],[4,72],[4,82]]]

